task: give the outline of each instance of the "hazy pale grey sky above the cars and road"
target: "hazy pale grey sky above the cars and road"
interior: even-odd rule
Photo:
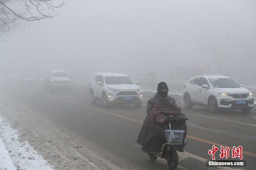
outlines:
[[[253,0],[68,0],[57,12],[11,29],[0,42],[0,66],[65,69],[74,78],[143,71],[161,77],[175,66],[207,64],[219,74],[217,57],[222,74],[254,76]]]

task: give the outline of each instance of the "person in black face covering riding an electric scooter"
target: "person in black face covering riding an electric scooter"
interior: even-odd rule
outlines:
[[[178,165],[178,154],[184,152],[186,138],[186,120],[181,109],[177,107],[174,98],[168,96],[168,87],[165,82],[157,86],[157,93],[147,102],[147,116],[141,127],[137,143],[142,145],[142,151],[148,153],[151,161],[157,157],[165,158],[169,168],[174,170]],[[168,125],[168,123],[172,122]],[[168,126],[166,126],[168,125]],[[166,140],[166,129],[182,130],[180,144],[170,144]]]

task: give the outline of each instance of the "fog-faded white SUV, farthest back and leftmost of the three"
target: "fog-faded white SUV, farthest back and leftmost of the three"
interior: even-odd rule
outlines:
[[[54,90],[68,90],[73,92],[72,76],[68,76],[64,70],[48,70],[44,80],[44,90],[53,92]]]

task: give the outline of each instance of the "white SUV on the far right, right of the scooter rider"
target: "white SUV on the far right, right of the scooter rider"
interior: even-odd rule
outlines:
[[[241,109],[248,113],[254,107],[252,93],[228,76],[208,75],[192,77],[185,85],[183,101],[186,109],[193,105],[219,109]]]

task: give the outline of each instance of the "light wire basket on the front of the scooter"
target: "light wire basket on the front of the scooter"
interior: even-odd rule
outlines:
[[[167,144],[180,145],[183,141],[184,130],[165,130]]]

